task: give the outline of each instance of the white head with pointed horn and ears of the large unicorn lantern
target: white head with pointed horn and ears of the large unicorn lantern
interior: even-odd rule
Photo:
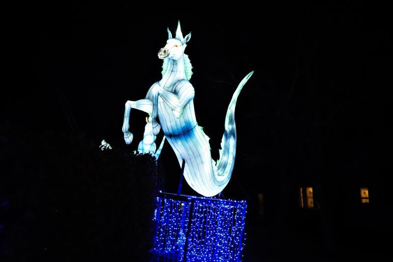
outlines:
[[[172,38],[172,33],[170,32],[169,28],[167,30],[168,30],[167,44],[165,45],[165,47],[160,49],[160,52],[158,52],[158,58],[160,59],[169,58],[173,60],[178,60],[184,54],[184,49],[187,46],[186,43],[190,41],[191,38],[191,32],[188,35],[186,35],[186,37],[183,37],[183,34],[180,29],[180,21],[177,24],[175,38]]]

